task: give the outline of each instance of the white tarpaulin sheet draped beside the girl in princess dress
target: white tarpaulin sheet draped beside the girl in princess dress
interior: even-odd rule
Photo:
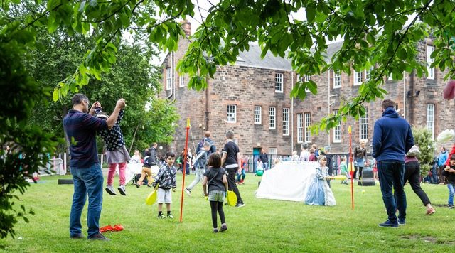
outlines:
[[[314,180],[319,163],[315,161],[284,161],[274,168],[264,171],[261,185],[256,190],[256,198],[272,200],[305,200],[307,186]]]

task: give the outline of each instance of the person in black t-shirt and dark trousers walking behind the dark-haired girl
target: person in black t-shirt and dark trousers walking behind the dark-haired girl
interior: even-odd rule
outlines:
[[[237,208],[245,205],[235,183],[235,172],[240,168],[239,152],[239,147],[234,142],[234,133],[232,131],[226,132],[226,144],[221,153],[221,164],[228,171],[229,190],[233,190],[235,195],[237,195],[237,205],[235,205]]]

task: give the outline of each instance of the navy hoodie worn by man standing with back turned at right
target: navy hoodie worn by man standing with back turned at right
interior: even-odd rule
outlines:
[[[387,107],[375,123],[373,131],[373,157],[376,161],[405,161],[405,154],[414,145],[411,126]]]

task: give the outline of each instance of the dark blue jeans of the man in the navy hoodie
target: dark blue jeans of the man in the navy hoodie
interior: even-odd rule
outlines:
[[[390,222],[397,222],[395,211],[398,209],[400,220],[406,218],[406,194],[403,189],[405,163],[402,161],[378,161],[378,176],[387,215]],[[392,186],[395,190],[393,198]]]

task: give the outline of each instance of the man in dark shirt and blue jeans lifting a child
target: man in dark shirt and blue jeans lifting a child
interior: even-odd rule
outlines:
[[[95,107],[101,107],[95,102],[89,111],[87,96],[77,93],[71,99],[73,109],[63,119],[63,129],[70,142],[70,169],[74,181],[73,204],[70,212],[70,238],[81,239],[82,225],[80,215],[88,194],[87,226],[88,239],[109,240],[100,233],[100,215],[102,209],[102,176],[100,161],[98,161],[96,133],[110,129],[117,122],[120,109],[125,107],[124,99],[119,99],[111,116],[104,119],[94,117]]]

